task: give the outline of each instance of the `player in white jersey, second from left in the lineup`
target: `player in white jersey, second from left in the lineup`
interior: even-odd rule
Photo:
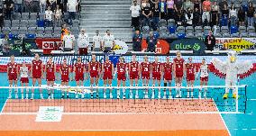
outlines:
[[[26,62],[23,61],[23,66],[20,67],[20,76],[21,76],[21,85],[22,86],[28,86],[29,84],[29,68],[26,66]],[[23,88],[21,90],[22,93],[22,99],[23,99]],[[26,99],[28,99],[28,93],[29,93],[29,88],[26,88],[25,94],[26,94]]]

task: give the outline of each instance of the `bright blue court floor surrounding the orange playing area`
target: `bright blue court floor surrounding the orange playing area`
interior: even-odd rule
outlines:
[[[0,86],[8,86],[8,81],[7,81],[7,77],[6,77],[6,73],[0,73],[0,78],[2,79],[0,82]],[[32,80],[30,80],[30,83],[32,82]],[[183,86],[186,86],[186,82],[185,80],[183,81]],[[60,81],[56,81],[57,84],[60,84]],[[45,80],[42,83],[43,85],[46,84]],[[215,75],[210,74],[209,77],[209,86],[223,86],[224,85],[224,79],[220,79],[219,77],[215,77]],[[150,84],[151,85],[151,84]],[[196,86],[199,85],[199,81],[196,81],[195,83]],[[251,75],[251,77],[247,77],[245,79],[243,79],[240,82],[240,85],[247,85],[247,106],[246,106],[246,111],[245,113],[241,113],[241,114],[221,114],[224,122],[228,128],[228,131],[230,131],[231,135],[248,135],[248,136],[252,136],[252,135],[256,135],[256,92],[255,92],[255,87],[256,87],[256,74]],[[30,84],[30,86],[32,86]],[[70,82],[70,86],[75,86],[75,82],[72,81]],[[85,86],[89,86],[89,81],[87,80],[85,82]],[[99,86],[103,86],[103,81],[101,80],[99,82]],[[114,80],[113,82],[113,86],[116,86],[116,80]],[[126,86],[129,86],[129,81],[126,82]],[[140,86],[142,86],[142,81],[140,81]],[[163,83],[161,83],[161,86],[163,86]],[[172,86],[174,86],[174,81],[172,81]],[[162,92],[162,91],[160,91]],[[174,92],[174,91],[172,91]],[[5,104],[5,100],[7,97],[8,90],[7,89],[1,89],[1,94],[0,94],[0,98],[1,98],[1,103],[0,103],[0,109],[3,108],[4,104]],[[151,94],[151,92],[149,93]],[[46,93],[44,94],[45,97],[47,97]],[[126,97],[129,97],[129,94],[125,94]],[[142,92],[139,94],[140,98],[143,97]],[[172,94],[173,95],[173,94]],[[185,92],[184,97],[187,95],[187,93]],[[211,95],[211,94],[210,94]],[[134,94],[133,94],[134,96]],[[131,98],[133,98],[133,96],[131,96]],[[161,93],[161,96],[162,93]],[[36,97],[36,95],[35,95]],[[59,97],[59,95],[55,95],[55,97]],[[87,96],[86,96],[87,97]],[[101,95],[99,95],[99,97],[101,97]],[[217,95],[216,97],[218,98],[222,98],[222,95]],[[214,98],[215,99],[215,98]],[[218,109],[220,111],[222,111],[222,107],[218,107]]]

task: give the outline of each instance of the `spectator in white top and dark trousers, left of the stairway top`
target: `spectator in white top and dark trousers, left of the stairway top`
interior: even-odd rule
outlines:
[[[72,20],[76,19],[78,11],[78,0],[68,0],[69,24],[72,25]]]

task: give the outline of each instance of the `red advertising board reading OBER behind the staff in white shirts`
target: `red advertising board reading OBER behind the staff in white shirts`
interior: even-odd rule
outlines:
[[[51,50],[59,50],[59,47],[62,47],[62,41],[59,38],[37,38],[35,43],[43,50],[43,54],[50,54]]]

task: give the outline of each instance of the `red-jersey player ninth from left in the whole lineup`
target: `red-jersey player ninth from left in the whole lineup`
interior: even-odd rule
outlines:
[[[126,75],[127,75],[127,65],[124,63],[123,57],[119,58],[119,62],[116,64],[115,68],[115,74],[117,74],[117,86],[121,86],[121,83],[123,86],[125,86],[125,80],[126,80]],[[123,89],[118,89],[120,90],[119,95],[117,95],[117,98],[120,98],[121,91],[123,92]],[[118,94],[118,91],[117,91]],[[123,92],[123,99],[125,99],[125,92]]]

